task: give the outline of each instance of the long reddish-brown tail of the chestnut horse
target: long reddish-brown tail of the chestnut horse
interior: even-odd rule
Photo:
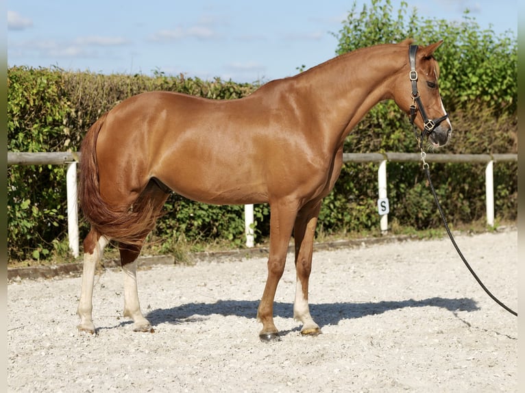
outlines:
[[[125,244],[143,244],[147,233],[153,229],[158,214],[149,199],[138,199],[130,206],[112,206],[100,195],[97,164],[97,138],[106,120],[103,114],[88,130],[80,152],[80,208],[91,228],[99,235]]]

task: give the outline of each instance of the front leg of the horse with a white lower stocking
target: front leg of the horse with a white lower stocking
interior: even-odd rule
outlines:
[[[297,272],[293,318],[302,322],[302,335],[318,335],[321,333],[319,325],[310,316],[310,307],[308,307],[308,281],[312,270],[313,242],[320,208],[321,203],[303,207],[297,214],[293,230],[295,270]]]

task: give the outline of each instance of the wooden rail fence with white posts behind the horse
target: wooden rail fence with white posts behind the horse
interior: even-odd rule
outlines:
[[[77,207],[77,163],[80,152],[19,153],[8,152],[8,165],[67,165],[67,216],[69,247],[74,257],[80,253]],[[487,225],[494,225],[493,164],[495,162],[517,162],[517,154],[439,154],[429,153],[426,162],[487,164],[485,169],[485,193]],[[377,162],[378,168],[378,213],[381,215],[382,233],[388,230],[387,162],[418,162],[419,153],[343,153],[343,162]],[[254,205],[245,205],[246,246],[254,246]]]

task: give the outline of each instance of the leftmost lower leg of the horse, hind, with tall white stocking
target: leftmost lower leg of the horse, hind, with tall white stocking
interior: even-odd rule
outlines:
[[[82,289],[80,301],[77,307],[77,315],[80,317],[79,331],[95,333],[93,324],[93,286],[95,284],[95,270],[97,262],[102,257],[104,247],[108,244],[105,236],[100,236],[97,231],[91,229],[84,239],[84,267],[82,270]]]

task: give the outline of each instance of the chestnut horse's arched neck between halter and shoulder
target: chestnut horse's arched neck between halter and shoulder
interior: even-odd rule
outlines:
[[[310,101],[318,115],[344,139],[371,107],[392,98],[389,79],[404,64],[393,53],[403,50],[398,45],[380,45],[340,55],[306,71],[298,78],[302,79],[298,86],[315,94]]]

